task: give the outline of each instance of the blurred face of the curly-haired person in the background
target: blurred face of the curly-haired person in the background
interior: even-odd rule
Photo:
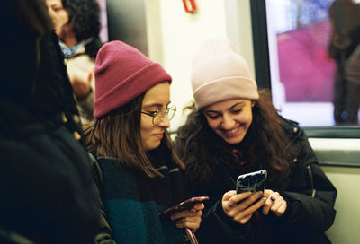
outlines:
[[[64,39],[68,29],[67,22],[69,21],[67,10],[61,0],[46,0],[46,4],[58,39]]]

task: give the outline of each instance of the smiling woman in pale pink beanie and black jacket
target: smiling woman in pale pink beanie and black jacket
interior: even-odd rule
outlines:
[[[210,196],[203,243],[329,243],[337,190],[297,123],[257,91],[229,40],[205,42],[193,61],[193,111],[175,138],[193,195]],[[235,191],[239,175],[266,170],[266,189]]]

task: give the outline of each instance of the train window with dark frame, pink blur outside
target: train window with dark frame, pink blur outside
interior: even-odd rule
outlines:
[[[271,88],[280,113],[311,127],[313,135],[321,128],[324,136],[326,128],[329,136],[360,137],[360,95],[352,94],[360,92],[360,81],[344,78],[349,77],[347,61],[355,56],[360,40],[360,4],[352,0],[250,3],[257,83]],[[349,107],[352,96],[357,104]],[[348,109],[354,107],[356,112]],[[345,127],[356,133],[343,135]]]

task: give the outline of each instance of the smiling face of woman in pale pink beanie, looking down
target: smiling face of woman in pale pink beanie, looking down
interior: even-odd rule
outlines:
[[[228,144],[240,143],[253,121],[252,100],[223,100],[202,109],[211,129]]]

